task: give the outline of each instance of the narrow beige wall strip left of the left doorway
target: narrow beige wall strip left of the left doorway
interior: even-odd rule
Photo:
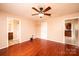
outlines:
[[[8,46],[6,14],[0,12],[0,49]]]

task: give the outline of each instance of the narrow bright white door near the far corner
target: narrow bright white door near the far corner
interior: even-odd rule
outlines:
[[[47,22],[41,22],[41,38],[47,39]]]

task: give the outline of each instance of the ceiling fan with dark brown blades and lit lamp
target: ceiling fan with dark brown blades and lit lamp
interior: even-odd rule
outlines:
[[[44,15],[46,15],[46,16],[51,16],[50,13],[46,13],[48,10],[51,9],[50,6],[48,6],[46,9],[43,9],[43,7],[40,7],[39,10],[36,9],[35,7],[32,7],[32,9],[38,12],[38,13],[32,14],[32,16],[34,16],[34,15],[39,15],[40,18],[42,18]]]

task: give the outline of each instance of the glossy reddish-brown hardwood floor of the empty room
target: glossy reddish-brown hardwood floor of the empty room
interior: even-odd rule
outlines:
[[[49,40],[34,39],[0,50],[1,56],[79,56],[79,48]]]

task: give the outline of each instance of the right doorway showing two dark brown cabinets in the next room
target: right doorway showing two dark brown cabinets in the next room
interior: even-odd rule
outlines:
[[[65,43],[78,46],[79,19],[65,21]]]

